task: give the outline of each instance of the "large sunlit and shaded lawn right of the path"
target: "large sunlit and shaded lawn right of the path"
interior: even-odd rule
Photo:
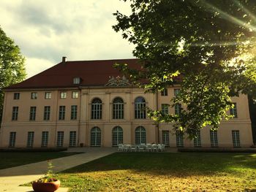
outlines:
[[[70,191],[256,190],[256,154],[114,153],[59,179]]]

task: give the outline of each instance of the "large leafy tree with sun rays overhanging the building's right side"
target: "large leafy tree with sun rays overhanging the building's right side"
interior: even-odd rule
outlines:
[[[124,0],[126,1],[126,0]],[[130,0],[131,15],[116,12],[113,26],[135,44],[141,70],[118,68],[146,91],[179,83],[170,105],[177,115],[148,110],[154,120],[173,122],[189,137],[231,118],[231,97],[256,97],[255,0]],[[148,83],[142,79],[147,79]]]

